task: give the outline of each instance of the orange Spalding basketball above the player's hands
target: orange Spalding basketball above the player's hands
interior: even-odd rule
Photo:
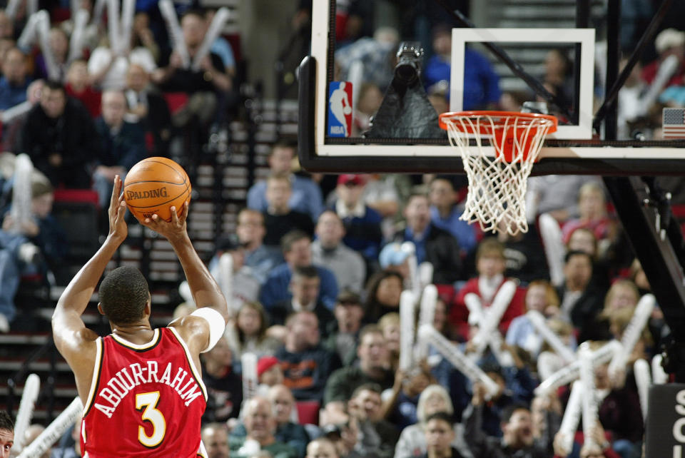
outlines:
[[[167,158],[147,158],[126,174],[123,196],[128,210],[141,221],[157,215],[171,221],[171,207],[181,213],[191,200],[191,180],[176,162]]]

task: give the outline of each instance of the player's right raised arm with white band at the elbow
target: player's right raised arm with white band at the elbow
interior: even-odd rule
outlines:
[[[193,299],[198,310],[178,322],[174,322],[183,339],[191,350],[205,352],[210,350],[223,335],[228,322],[228,305],[219,285],[209,273],[204,263],[193,248],[191,238],[186,230],[188,217],[188,203],[183,204],[181,214],[171,207],[171,222],[167,222],[158,215],[146,218],[144,225],[163,235],[176,252],[178,260],[186,273],[188,286],[191,288]]]

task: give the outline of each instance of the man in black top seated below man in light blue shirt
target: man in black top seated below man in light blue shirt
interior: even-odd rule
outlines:
[[[310,237],[314,234],[312,218],[307,213],[290,208],[291,185],[288,177],[282,175],[270,175],[266,180],[268,205],[263,212],[266,228],[265,245],[278,245],[283,235],[293,229],[301,230]]]

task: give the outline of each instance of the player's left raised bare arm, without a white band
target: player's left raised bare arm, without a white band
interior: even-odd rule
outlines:
[[[83,345],[94,342],[98,337],[83,324],[81,314],[86,310],[107,263],[128,235],[124,220],[126,203],[121,196],[122,185],[121,178],[117,175],[109,204],[109,234],[105,243],[71,280],[52,315],[55,345],[72,368],[83,361]]]

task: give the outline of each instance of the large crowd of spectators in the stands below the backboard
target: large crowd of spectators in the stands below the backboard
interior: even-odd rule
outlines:
[[[649,292],[639,265],[624,262],[630,248],[621,245],[621,225],[597,178],[569,178],[560,187],[564,195],[545,194],[542,182],[532,185],[531,230],[514,237],[459,220],[464,193],[453,177],[416,176],[410,190],[396,186],[395,195],[405,198],[397,198],[394,214],[385,213],[394,228],[387,231],[372,207],[376,195],[365,193],[367,183],[387,177],[338,175],[326,198],[320,189],[301,191],[300,202],[322,209],[313,218],[311,210],[293,210],[301,205],[293,203],[293,189],[298,181],[317,182],[278,166],[292,163],[294,145],[277,143],[273,150],[272,158],[282,157],[250,189],[264,200],[251,200],[238,213],[236,234],[215,257],[233,256],[236,288],[244,290],[240,278],[249,277],[259,289],[249,300],[233,290],[225,342],[203,357],[213,400],[205,431],[213,440],[219,435],[218,449],[238,457],[640,456],[644,422],[632,363],[650,360],[668,333],[658,305],[624,377],[609,377],[607,365],[596,368],[592,440],[579,433],[564,449],[558,431],[570,385],[535,392],[567,363],[528,311],[539,313],[574,355],[584,342],[597,349],[620,340]],[[539,209],[557,223],[564,243],[557,260],[563,277],[555,283],[537,231]],[[283,234],[280,243],[268,238],[270,231]],[[496,393],[435,350],[400,369],[400,303],[412,287],[412,256],[432,265],[427,280],[439,292],[433,327],[458,351],[474,355]],[[511,281],[515,291],[493,328],[499,347],[477,356],[474,337]],[[473,295],[480,313],[469,306]],[[241,408],[246,353],[258,357],[259,385]],[[258,455],[263,452],[270,455]]]

